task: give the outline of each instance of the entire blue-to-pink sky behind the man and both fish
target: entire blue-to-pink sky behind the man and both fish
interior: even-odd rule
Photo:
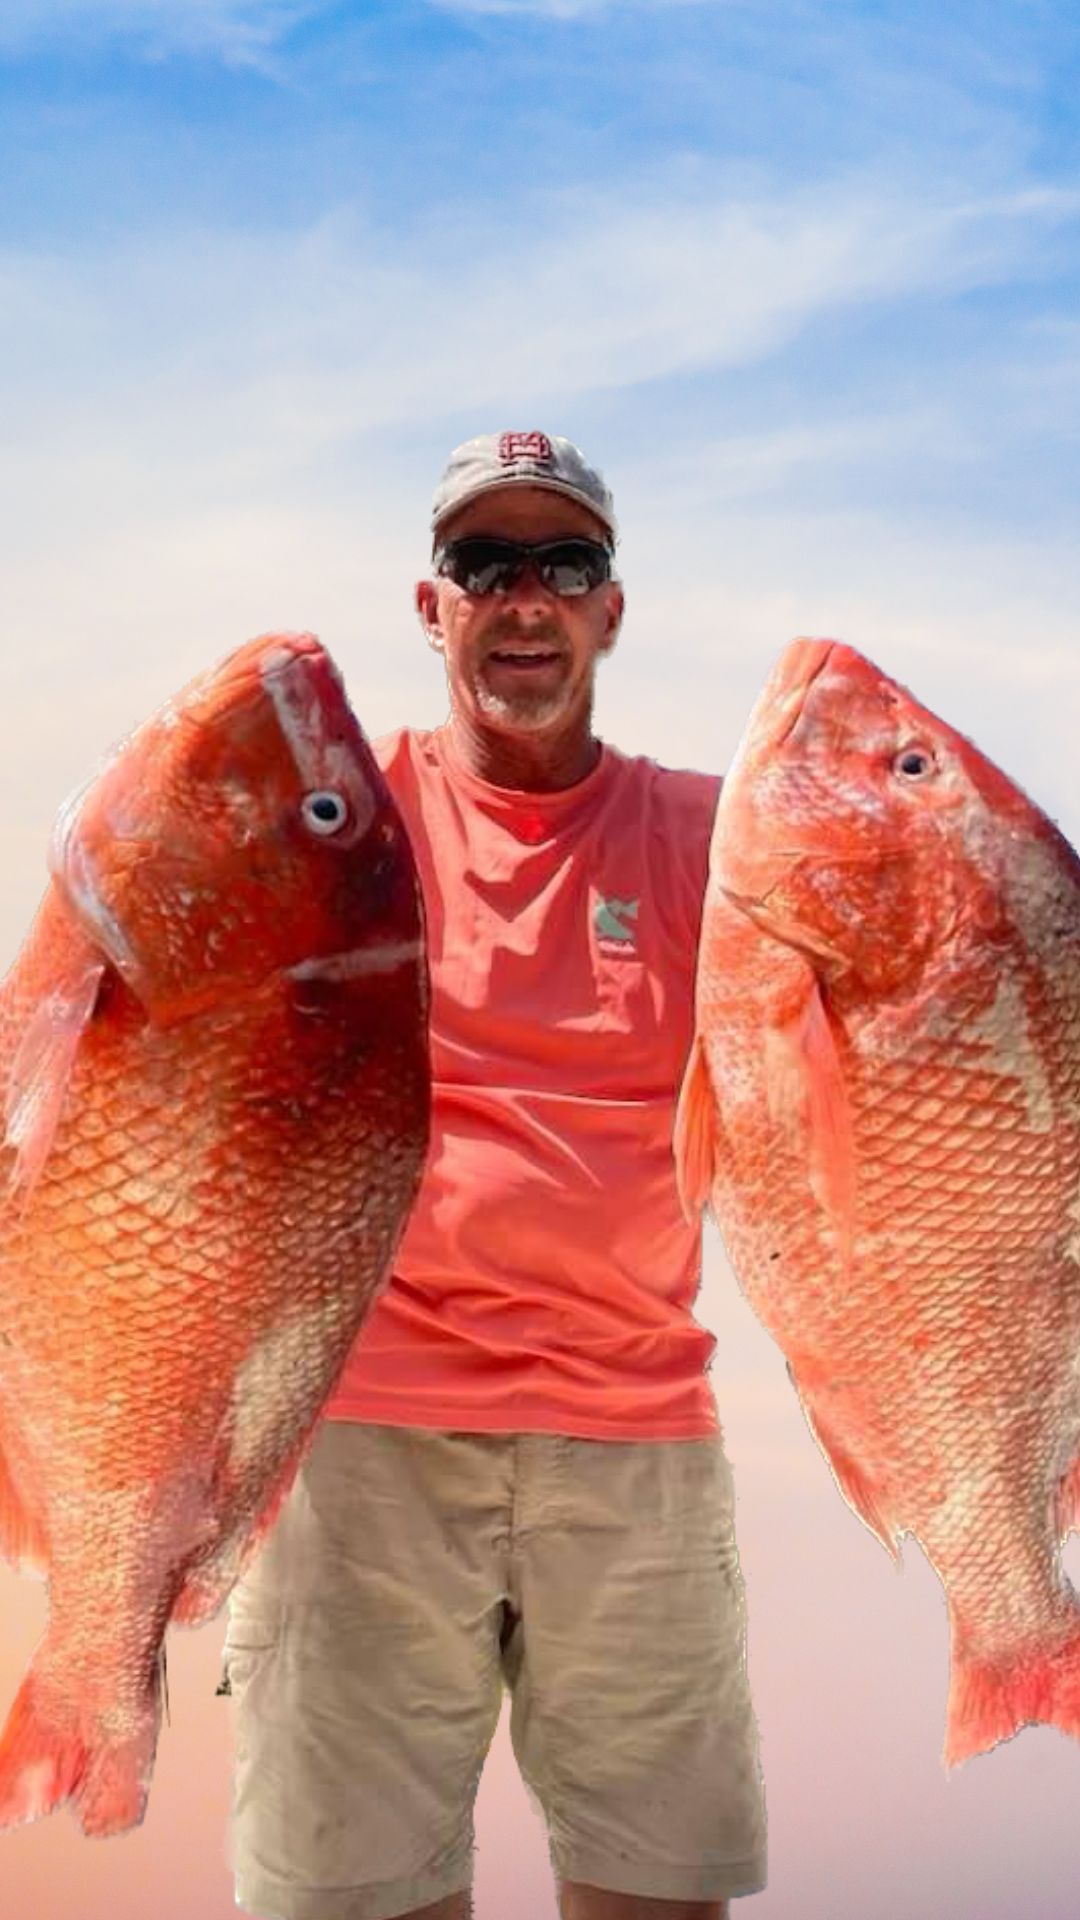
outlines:
[[[1080,841],[1078,98],[1068,0],[4,0],[4,962],[63,795],[252,634],[317,632],[369,733],[442,720],[430,492],[507,426],[615,493],[607,739],[723,770],[832,634]],[[740,1920],[1065,1920],[1076,1743],[945,1778],[938,1582],[842,1503],[713,1229],[698,1317],[771,1822]],[[0,1620],[2,1709],[42,1590],[0,1571]],[[12,1910],[234,1910],[221,1632],[173,1634],[144,1828],[0,1836]],[[503,1726],[477,1920],[553,1910]]]

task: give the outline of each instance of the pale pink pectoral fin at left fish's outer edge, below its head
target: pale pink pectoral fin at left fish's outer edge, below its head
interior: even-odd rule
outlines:
[[[71,972],[42,1000],[15,1050],[4,1102],[4,1146],[15,1152],[8,1188],[21,1200],[29,1198],[48,1160],[104,972],[100,952],[90,945],[79,947]]]

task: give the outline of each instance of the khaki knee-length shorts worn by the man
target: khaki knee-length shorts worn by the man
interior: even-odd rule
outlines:
[[[386,1920],[469,1885],[503,1684],[565,1880],[765,1885],[719,1438],[325,1421],[233,1594],[236,1903]]]

